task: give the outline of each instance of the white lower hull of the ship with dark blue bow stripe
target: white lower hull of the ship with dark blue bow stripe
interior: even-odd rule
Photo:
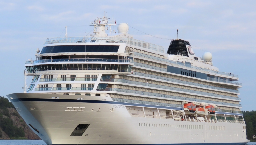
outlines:
[[[59,97],[59,99],[50,99],[51,97]],[[25,122],[39,132],[32,130],[44,142],[51,145],[236,145],[246,144],[249,141],[243,130],[245,124],[132,117],[126,109],[126,105],[132,106],[132,103],[114,102],[110,97],[86,96],[84,100],[77,100],[75,95],[10,94],[8,98],[16,109],[20,110],[19,114]],[[65,111],[67,107],[72,107],[73,111]],[[78,124],[90,125],[82,136],[70,136]],[[158,126],[156,127],[155,124]],[[193,125],[195,128],[188,129],[188,125]],[[209,126],[225,126],[225,130],[210,130]]]

